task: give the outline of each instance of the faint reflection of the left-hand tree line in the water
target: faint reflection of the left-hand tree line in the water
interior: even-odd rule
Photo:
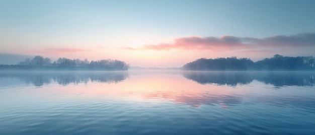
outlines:
[[[89,80],[92,82],[118,83],[129,77],[129,74],[127,72],[18,72],[0,74],[0,77],[20,78],[27,84],[43,86],[51,83],[51,81],[57,82],[59,85],[88,83]]]

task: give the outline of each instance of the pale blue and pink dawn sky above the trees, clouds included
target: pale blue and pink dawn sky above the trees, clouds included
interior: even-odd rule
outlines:
[[[181,67],[198,58],[315,56],[314,5],[1,0],[0,63],[15,61],[13,54],[110,58],[142,67]]]

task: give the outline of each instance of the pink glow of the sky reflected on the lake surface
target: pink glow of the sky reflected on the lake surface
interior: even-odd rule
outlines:
[[[167,100],[192,107],[212,105],[228,108],[242,102],[240,91],[235,91],[233,87],[200,85],[180,74],[140,74],[119,83],[90,81],[87,84],[55,87],[53,91],[70,97],[114,97],[134,101],[154,99],[154,102]]]

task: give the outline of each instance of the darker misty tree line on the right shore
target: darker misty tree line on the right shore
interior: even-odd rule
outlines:
[[[249,58],[200,58],[186,63],[183,70],[190,71],[315,71],[313,56],[288,57],[279,54],[257,62]]]

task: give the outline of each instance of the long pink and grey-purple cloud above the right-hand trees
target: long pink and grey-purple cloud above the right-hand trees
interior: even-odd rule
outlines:
[[[282,47],[309,47],[315,46],[315,33],[302,33],[291,36],[278,35],[267,38],[252,37],[182,37],[174,43],[160,43],[143,45],[141,48],[125,47],[128,50],[246,50]]]

